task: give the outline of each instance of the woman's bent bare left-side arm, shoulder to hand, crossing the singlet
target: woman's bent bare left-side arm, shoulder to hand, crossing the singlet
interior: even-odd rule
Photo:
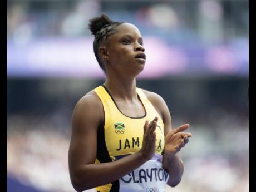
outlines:
[[[97,96],[86,95],[78,101],[73,111],[72,136],[68,152],[70,178],[76,191],[112,183],[138,168],[154,155],[156,123],[149,125],[146,122],[144,139],[147,139],[139,152],[121,160],[95,164],[97,129],[103,122],[104,110]]]

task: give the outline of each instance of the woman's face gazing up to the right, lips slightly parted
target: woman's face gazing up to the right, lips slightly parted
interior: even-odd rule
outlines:
[[[107,38],[106,51],[109,66],[124,75],[138,75],[146,62],[145,49],[139,29],[130,23],[122,23],[117,32]]]

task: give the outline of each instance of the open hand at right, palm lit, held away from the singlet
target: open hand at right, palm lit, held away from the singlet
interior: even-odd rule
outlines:
[[[182,132],[189,128],[189,124],[184,124],[170,131],[165,136],[165,148],[164,151],[168,155],[174,155],[180,151],[181,147],[184,147],[189,142],[189,137],[192,134],[188,132]]]

